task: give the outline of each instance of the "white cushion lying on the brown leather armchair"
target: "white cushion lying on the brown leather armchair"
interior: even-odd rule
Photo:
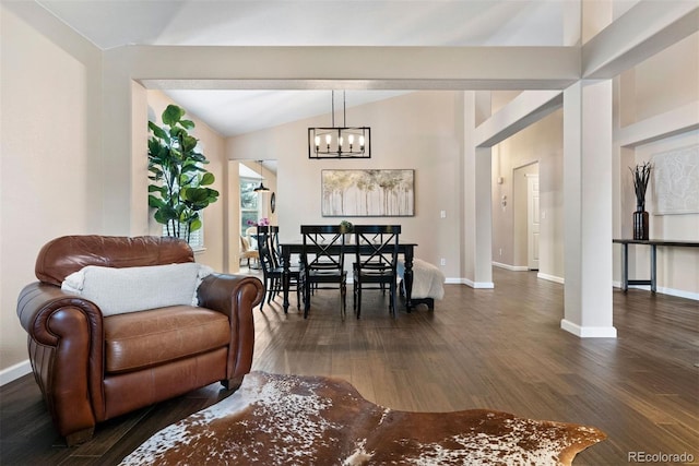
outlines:
[[[197,306],[197,288],[212,272],[196,262],[122,268],[87,265],[67,276],[61,289],[91,300],[103,315],[112,315]]]

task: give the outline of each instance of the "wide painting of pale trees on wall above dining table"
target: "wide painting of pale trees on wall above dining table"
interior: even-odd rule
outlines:
[[[415,216],[415,170],[321,170],[323,217]]]

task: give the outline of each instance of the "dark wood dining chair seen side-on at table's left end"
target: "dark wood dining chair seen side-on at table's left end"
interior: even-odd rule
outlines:
[[[280,227],[273,225],[257,227],[258,251],[260,252],[260,264],[262,266],[262,276],[264,278],[264,296],[260,302],[260,310],[266,303],[270,304],[274,297],[282,291],[284,279],[284,267],[281,263],[279,254],[279,232]],[[300,310],[300,266],[289,265],[288,267],[288,285],[289,289],[296,290],[296,308]],[[286,312],[286,310],[284,311]]]

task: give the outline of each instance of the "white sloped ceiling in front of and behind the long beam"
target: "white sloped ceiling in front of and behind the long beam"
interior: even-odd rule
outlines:
[[[569,13],[566,10],[578,3],[573,0],[37,2],[102,49],[125,45],[560,46],[564,16]],[[328,113],[331,105],[329,91],[167,89],[165,93],[225,136]],[[346,106],[400,93],[347,91]]]

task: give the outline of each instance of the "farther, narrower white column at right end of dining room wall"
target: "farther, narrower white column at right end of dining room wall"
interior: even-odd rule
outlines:
[[[464,248],[465,284],[493,288],[490,147],[475,146],[476,93],[464,92]]]

